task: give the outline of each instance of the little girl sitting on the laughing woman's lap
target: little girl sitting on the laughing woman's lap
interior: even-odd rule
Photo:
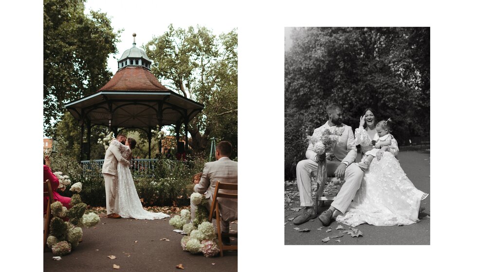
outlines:
[[[391,131],[392,130],[390,118],[386,121],[383,120],[376,124],[377,133],[373,139],[373,141],[376,141],[376,144],[373,149],[365,153],[365,158],[360,163],[358,163],[358,166],[361,168],[361,170],[366,171],[369,168],[369,164],[374,159],[374,157],[376,157],[376,153],[379,151],[380,148],[387,146],[389,149],[393,147],[397,149],[398,143],[394,139],[394,137],[389,134]]]

